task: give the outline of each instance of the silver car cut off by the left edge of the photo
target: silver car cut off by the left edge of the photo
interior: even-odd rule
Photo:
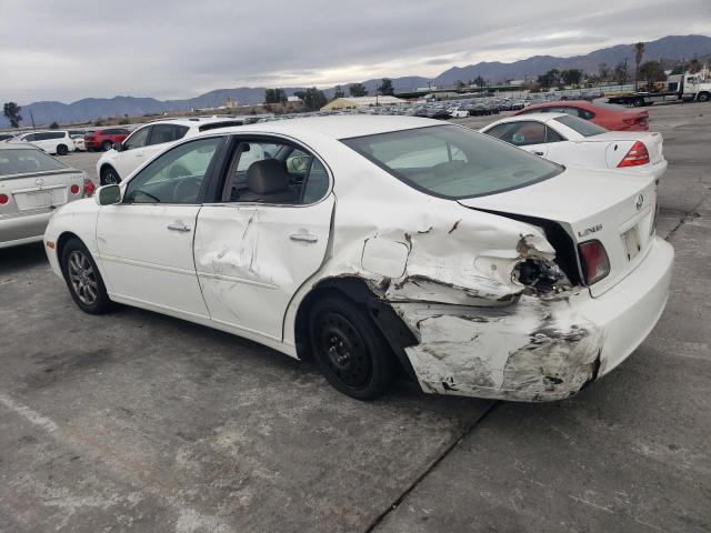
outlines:
[[[52,211],[93,192],[84,173],[28,143],[0,143],[0,248],[42,240]]]

